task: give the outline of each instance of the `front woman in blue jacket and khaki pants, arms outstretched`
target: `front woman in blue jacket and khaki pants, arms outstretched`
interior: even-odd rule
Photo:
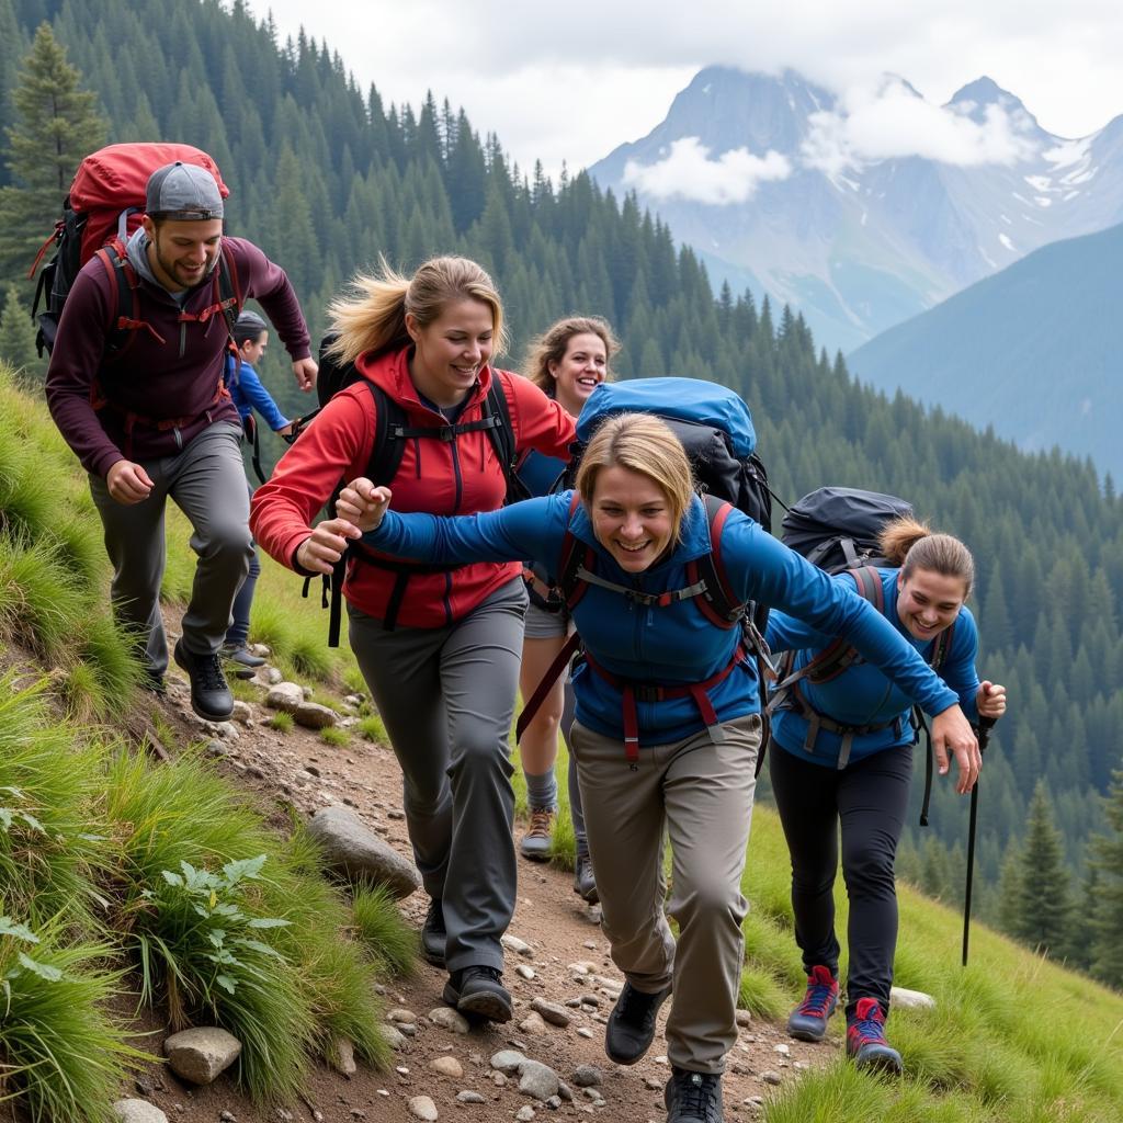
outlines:
[[[657,418],[619,414],[590,441],[576,494],[451,519],[398,514],[389,502],[390,491],[368,480],[344,489],[341,517],[314,532],[325,566],[360,535],[384,553],[432,562],[533,558],[554,576],[570,540],[583,551],[583,594],[570,603],[585,656],[573,675],[570,738],[603,930],[627,978],[605,1050],[618,1063],[638,1061],[674,987],[668,1123],[720,1120],[721,1072],[737,1040],[740,880],[761,718],[740,629],[719,627],[693,603],[690,563],[711,551],[710,527],[682,445]],[[951,748],[961,785],[975,783],[978,743],[955,692],[871,605],[739,511],[728,513],[720,547],[738,599],[846,636],[937,715],[941,754]],[[663,910],[665,830],[677,947]]]

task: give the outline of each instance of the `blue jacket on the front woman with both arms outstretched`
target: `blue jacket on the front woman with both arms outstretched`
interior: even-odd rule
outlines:
[[[572,492],[560,492],[458,519],[390,510],[364,539],[387,554],[430,562],[532,558],[556,577],[568,527],[578,541],[592,547],[597,577],[656,594],[688,586],[687,563],[710,553],[705,506],[695,497],[670,554],[641,574],[626,573],[596,541],[584,505],[578,504],[570,514],[572,496]],[[831,581],[740,511],[732,511],[722,528],[721,559],[739,600],[776,605],[818,631],[846,636],[928,713],[941,713],[957,703],[955,692],[852,586]],[[632,683],[685,686],[705,682],[729,666],[740,640],[739,629],[718,628],[691,600],[640,605],[595,584],[588,585],[574,606],[573,619],[596,661]],[[587,664],[578,664],[573,685],[577,720],[606,737],[622,739],[621,690]],[[741,659],[712,687],[709,697],[719,721],[759,712],[754,663]],[[637,718],[641,746],[665,745],[705,728],[690,696],[639,701]]]

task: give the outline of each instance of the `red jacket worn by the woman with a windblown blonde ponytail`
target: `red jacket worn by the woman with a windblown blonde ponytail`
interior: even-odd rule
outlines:
[[[409,373],[410,350],[403,348],[374,358],[360,356],[356,367],[364,378],[376,383],[402,407],[409,427],[431,427],[435,431],[445,428],[448,421],[418,396]],[[484,367],[457,421],[483,417],[493,377],[501,380],[506,395],[517,453],[537,448],[547,456],[568,458],[574,439],[573,418],[533,383],[508,371]],[[355,383],[340,391],[281,458],[268,483],[257,489],[250,527],[262,548],[282,565],[301,572],[296,549],[311,532],[316,513],[331,497],[340,480],[367,474],[375,420],[369,387]],[[503,467],[491,438],[482,430],[460,433],[455,440],[408,439],[390,486],[395,506],[436,514],[493,511],[506,496]],[[372,551],[375,559],[380,553],[383,551]],[[506,559],[471,565],[450,559],[445,572],[413,574],[396,623],[411,628],[446,627],[521,572],[521,565]],[[362,612],[383,620],[395,578],[395,573],[360,555],[349,566],[344,595]]]

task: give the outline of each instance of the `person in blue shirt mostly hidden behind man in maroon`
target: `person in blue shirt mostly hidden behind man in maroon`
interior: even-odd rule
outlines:
[[[243,312],[235,321],[234,341],[238,348],[237,356],[228,355],[226,359],[226,389],[238,409],[241,427],[247,439],[255,447],[254,438],[257,419],[256,410],[265,423],[279,436],[287,437],[292,432],[292,422],[277,409],[272,394],[262,385],[255,365],[261,363],[268,346],[268,325],[256,312]],[[256,464],[256,460],[255,460]],[[249,485],[249,494],[254,489]],[[238,678],[252,678],[254,672],[264,666],[265,660],[254,655],[247,646],[249,639],[249,610],[254,603],[254,590],[262,573],[262,563],[257,546],[249,559],[249,573],[234,599],[230,627],[227,629],[226,641],[222,643],[222,658],[235,665],[234,673]]]

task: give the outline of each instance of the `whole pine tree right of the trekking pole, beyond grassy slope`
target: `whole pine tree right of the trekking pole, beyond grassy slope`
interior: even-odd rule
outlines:
[[[1053,825],[1052,801],[1044,782],[1038,780],[1021,855],[1013,934],[1039,951],[1063,956],[1068,947],[1071,901],[1061,837]]]

